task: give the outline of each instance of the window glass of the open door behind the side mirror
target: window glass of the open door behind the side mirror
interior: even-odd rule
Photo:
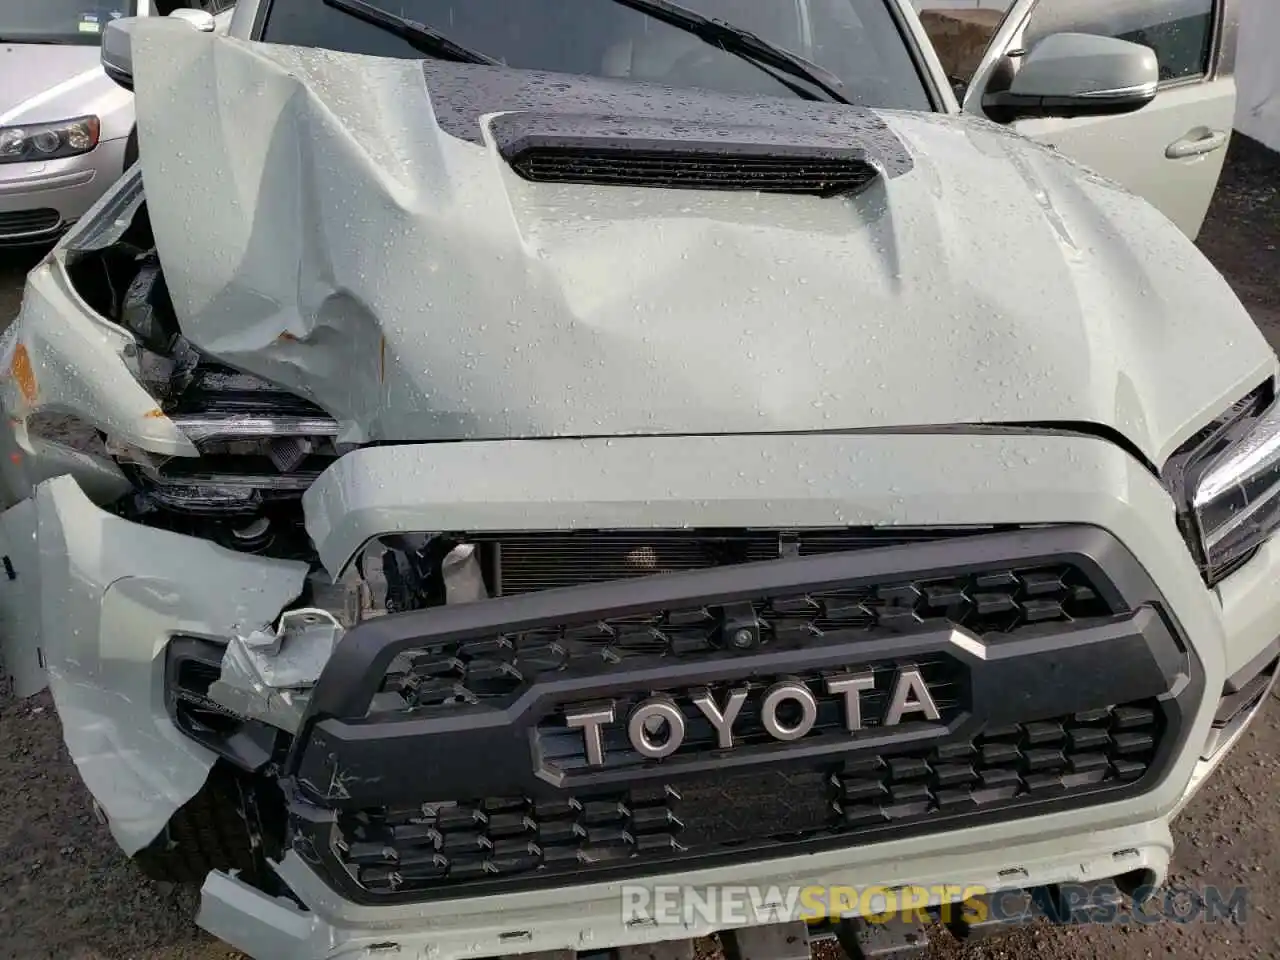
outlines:
[[[1156,51],[1165,82],[1199,77],[1213,42],[1213,0],[1041,0],[1023,45],[1070,31],[1117,37]]]

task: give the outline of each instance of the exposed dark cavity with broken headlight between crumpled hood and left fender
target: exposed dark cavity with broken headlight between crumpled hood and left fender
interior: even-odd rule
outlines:
[[[134,334],[138,381],[200,452],[198,460],[165,457],[102,438],[134,486],[118,504],[122,516],[229,549],[314,559],[301,497],[342,454],[338,424],[183,337],[145,206],[118,243],[83,255],[68,273],[101,316]]]

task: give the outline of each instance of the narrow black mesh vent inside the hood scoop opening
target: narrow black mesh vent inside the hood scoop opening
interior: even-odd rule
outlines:
[[[527,147],[511,165],[538,183],[594,183],[667,189],[745,189],[815,197],[854,193],[877,177],[852,157],[742,156],[644,150]]]

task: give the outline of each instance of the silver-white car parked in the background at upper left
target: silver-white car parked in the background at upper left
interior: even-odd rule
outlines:
[[[183,6],[212,13],[228,4],[0,4],[0,244],[56,238],[137,159],[133,95],[102,72],[102,27]]]

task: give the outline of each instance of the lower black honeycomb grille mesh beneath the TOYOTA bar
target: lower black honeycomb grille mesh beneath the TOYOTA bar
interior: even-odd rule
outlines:
[[[339,813],[332,833],[300,842],[375,897],[531,876],[585,879],[611,867],[635,877],[687,858],[707,865],[744,852],[796,854],[1030,801],[1079,800],[1142,778],[1165,728],[1158,704],[1139,701],[838,765]]]

